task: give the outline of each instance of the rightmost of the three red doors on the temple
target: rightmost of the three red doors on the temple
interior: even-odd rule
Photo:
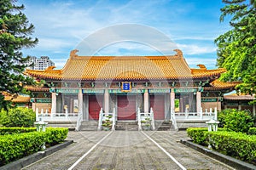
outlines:
[[[153,108],[155,120],[165,120],[165,96],[164,95],[151,95],[150,107]]]

